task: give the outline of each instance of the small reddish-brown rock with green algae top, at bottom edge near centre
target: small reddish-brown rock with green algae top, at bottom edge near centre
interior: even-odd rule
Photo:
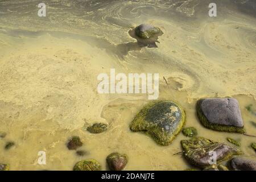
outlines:
[[[106,158],[106,162],[108,163],[109,169],[112,171],[121,171],[125,168],[127,164],[127,155],[126,154],[119,154],[114,152],[109,154]]]

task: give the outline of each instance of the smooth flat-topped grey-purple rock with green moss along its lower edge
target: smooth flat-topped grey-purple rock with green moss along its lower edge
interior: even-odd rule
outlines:
[[[234,98],[206,98],[197,102],[197,115],[208,129],[245,133],[238,101]]]

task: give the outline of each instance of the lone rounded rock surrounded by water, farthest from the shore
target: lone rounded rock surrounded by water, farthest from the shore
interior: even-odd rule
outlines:
[[[154,35],[160,34],[162,31],[158,27],[151,24],[141,24],[135,28],[135,34],[142,39],[151,38]]]

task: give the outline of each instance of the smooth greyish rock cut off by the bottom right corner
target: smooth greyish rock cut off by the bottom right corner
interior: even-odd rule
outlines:
[[[256,161],[245,158],[233,158],[229,166],[235,171],[256,171]]]

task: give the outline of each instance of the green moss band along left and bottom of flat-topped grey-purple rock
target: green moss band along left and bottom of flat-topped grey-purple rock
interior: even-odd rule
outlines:
[[[208,129],[217,130],[217,131],[226,131],[226,132],[233,132],[233,133],[245,133],[245,129],[243,127],[237,126],[226,126],[226,125],[218,125],[215,123],[210,123],[208,119],[203,114],[203,111],[200,108],[199,100],[196,105],[197,117],[199,118],[200,122],[207,127]]]

